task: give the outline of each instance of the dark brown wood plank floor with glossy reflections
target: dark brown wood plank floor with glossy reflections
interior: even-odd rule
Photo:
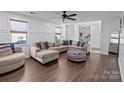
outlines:
[[[83,63],[71,62],[66,53],[59,60],[42,65],[32,58],[25,66],[0,75],[1,82],[120,82],[117,57],[91,53]]]

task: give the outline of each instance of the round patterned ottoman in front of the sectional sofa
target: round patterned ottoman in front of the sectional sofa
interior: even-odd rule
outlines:
[[[70,49],[67,51],[67,58],[72,61],[85,61],[86,52],[77,49]]]

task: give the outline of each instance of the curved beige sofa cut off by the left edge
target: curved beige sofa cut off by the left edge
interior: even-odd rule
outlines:
[[[16,53],[0,58],[0,74],[13,71],[25,63],[25,54],[20,48],[16,48]]]

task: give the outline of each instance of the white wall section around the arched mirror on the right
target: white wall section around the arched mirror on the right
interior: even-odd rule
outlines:
[[[103,54],[108,55],[109,41],[112,31],[120,31],[120,18],[102,20],[101,52]]]

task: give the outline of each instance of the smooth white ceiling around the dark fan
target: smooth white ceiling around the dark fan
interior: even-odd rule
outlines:
[[[25,15],[28,17],[38,18],[50,22],[62,22],[62,11],[33,11],[34,15],[30,14],[30,11],[16,11],[13,13]],[[67,14],[76,13],[76,21],[66,20],[65,22],[83,22],[83,21],[96,21],[107,18],[120,17],[120,11],[68,11]]]

